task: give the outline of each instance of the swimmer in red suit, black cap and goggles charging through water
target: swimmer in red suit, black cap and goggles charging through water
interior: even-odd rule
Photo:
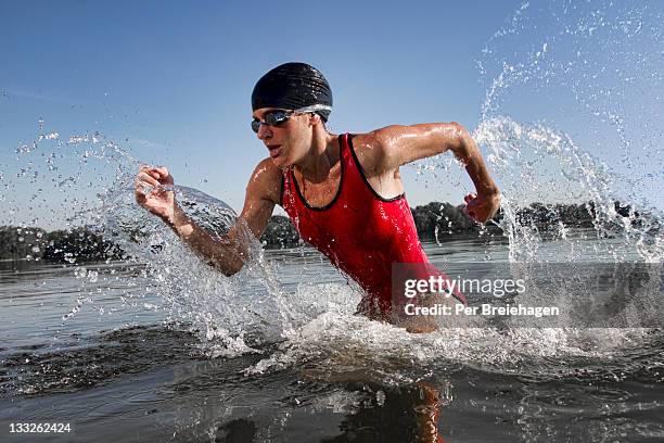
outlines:
[[[187,217],[164,187],[174,185],[167,168],[142,166],[136,180],[138,203],[225,275],[241,269],[248,238],[260,238],[280,205],[301,237],[362,288],[359,312],[391,321],[392,265],[422,264],[437,273],[426,265],[399,167],[451,151],[476,189],[464,198],[465,213],[485,223],[498,210],[498,188],[458,123],[331,134],[325,126],[332,111],[330,85],[305,63],[285,63],[265,74],[254,87],[252,111],[251,128],[269,156],[254,169],[242,213],[221,241]]]

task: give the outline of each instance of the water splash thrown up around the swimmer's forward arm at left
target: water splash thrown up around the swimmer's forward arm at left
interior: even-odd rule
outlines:
[[[40,121],[40,130],[43,127]],[[128,149],[99,132],[56,134],[39,134],[16,150],[18,173],[2,180],[9,211],[3,212],[0,224],[18,225],[21,236],[34,230],[33,237],[40,238],[25,237],[25,241],[35,241],[34,249],[49,244],[40,242],[43,231],[30,225],[62,228],[63,219],[64,227],[84,226],[86,235],[89,231],[119,246],[123,260],[140,269],[127,276],[127,284],[143,290],[128,292],[118,303],[149,306],[145,308],[167,313],[168,321],[190,325],[213,355],[253,352],[247,343],[288,336],[291,314],[283,291],[247,227],[239,232],[250,244],[248,262],[241,273],[227,278],[204,264],[162,220],[138,206],[133,188],[141,162]],[[232,208],[201,191],[180,186],[169,190],[215,241],[237,221]],[[94,284],[97,271],[86,269],[80,246],[65,252],[64,260],[74,265],[80,281],[79,295],[63,313],[63,320],[72,321],[80,309],[103,298],[104,290]],[[151,302],[143,303],[145,299]],[[155,305],[153,300],[161,303]]]

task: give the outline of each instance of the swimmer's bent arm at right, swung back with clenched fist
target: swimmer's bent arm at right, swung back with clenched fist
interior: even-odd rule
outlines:
[[[476,194],[465,197],[468,214],[478,221],[491,218],[498,208],[498,187],[490,177],[477,144],[458,123],[430,123],[412,126],[387,126],[366,135],[365,165],[376,175],[391,174],[399,166],[446,151],[465,166]]]

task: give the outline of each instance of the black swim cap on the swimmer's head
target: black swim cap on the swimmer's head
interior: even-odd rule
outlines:
[[[314,111],[323,122],[332,111],[332,90],[325,77],[306,63],[284,63],[260,77],[252,92],[252,111],[261,107],[297,110],[319,105]]]

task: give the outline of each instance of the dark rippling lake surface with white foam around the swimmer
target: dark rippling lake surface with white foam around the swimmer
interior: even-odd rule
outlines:
[[[599,242],[583,244],[591,257]],[[541,248],[556,255],[561,244]],[[499,239],[425,249],[448,270],[508,261]],[[315,251],[265,258],[282,311],[256,308],[257,320],[233,328],[246,318],[238,315],[226,330],[203,330],[201,316],[219,312],[202,315],[206,299],[188,304],[159,293],[164,274],[148,264],[2,263],[1,440],[664,439],[661,330],[485,326],[410,334],[354,315],[358,292]],[[183,276],[166,275],[178,291]],[[261,292],[246,283],[232,295],[247,308],[269,304]],[[289,330],[274,318],[283,309]],[[69,423],[71,432],[10,432],[22,422]]]

